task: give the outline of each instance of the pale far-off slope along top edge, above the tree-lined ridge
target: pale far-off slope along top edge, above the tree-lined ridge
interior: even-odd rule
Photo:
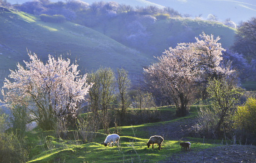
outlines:
[[[22,4],[28,0],[7,0],[11,4]],[[58,2],[60,0],[51,0]],[[65,2],[65,0],[62,0]],[[82,0],[89,4],[99,0]],[[208,14],[215,15],[218,21],[230,18],[236,24],[246,21],[256,15],[255,0],[105,0],[115,1],[118,4],[135,6],[155,5],[158,8],[171,7],[183,15],[192,18],[202,15],[207,19]]]

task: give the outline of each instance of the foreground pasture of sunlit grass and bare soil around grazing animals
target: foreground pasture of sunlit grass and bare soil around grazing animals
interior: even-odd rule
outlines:
[[[118,127],[119,147],[105,147],[106,134],[99,130],[92,143],[84,144],[75,139],[75,130],[69,131],[68,139],[57,139],[54,131],[34,129],[27,132],[32,146],[28,163],[207,163],[255,162],[256,146],[230,145],[232,140],[214,140],[183,137],[184,127],[191,125],[197,115],[196,106],[191,114],[182,118],[170,116],[169,120],[158,123]],[[160,107],[161,115],[174,114],[174,107]],[[114,129],[110,129],[113,133]],[[158,145],[147,147],[150,136],[161,135],[164,138],[162,149]],[[173,138],[175,136],[175,138]],[[189,141],[191,151],[181,150],[180,142]],[[224,143],[225,142],[225,143]],[[229,145],[222,145],[229,144]],[[239,154],[237,154],[239,153]],[[241,154],[240,154],[241,153]]]

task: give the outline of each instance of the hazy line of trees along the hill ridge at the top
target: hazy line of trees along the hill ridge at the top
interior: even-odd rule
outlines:
[[[50,2],[49,0],[33,0],[23,3],[22,5],[13,5],[13,8],[29,14],[61,14],[67,20],[74,20],[81,14],[94,15],[97,17],[113,17],[118,14],[139,14],[139,15],[156,15],[159,19],[166,19],[169,16],[182,16],[176,10],[170,7],[160,9],[156,6],[133,8],[131,5],[118,4],[117,2],[94,2],[89,5],[81,0],[68,0],[66,3]]]

